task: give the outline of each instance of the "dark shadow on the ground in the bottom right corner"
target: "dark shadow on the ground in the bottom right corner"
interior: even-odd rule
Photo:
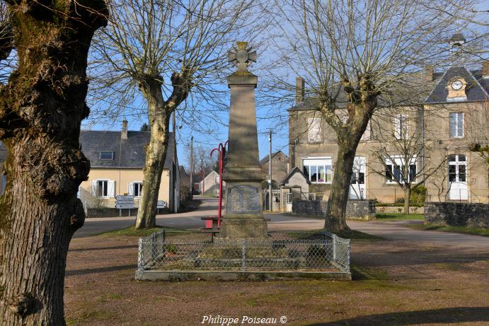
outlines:
[[[489,322],[489,307],[459,307],[382,313],[336,320],[335,322],[310,324],[309,326],[425,325],[448,322]]]

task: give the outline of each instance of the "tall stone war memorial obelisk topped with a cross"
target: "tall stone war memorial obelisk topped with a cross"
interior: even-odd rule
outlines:
[[[219,239],[267,238],[267,223],[263,218],[263,198],[260,183],[265,174],[258,163],[258,133],[256,129],[255,88],[258,77],[248,71],[256,62],[256,51],[248,42],[238,42],[229,52],[228,61],[237,66],[227,77],[231,90],[229,112],[229,149],[223,175],[226,181],[226,212]]]

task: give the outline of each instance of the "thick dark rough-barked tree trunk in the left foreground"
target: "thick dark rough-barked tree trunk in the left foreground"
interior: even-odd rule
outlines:
[[[105,2],[6,2],[18,67],[0,87],[0,139],[8,149],[0,325],[65,325],[68,246],[85,219],[76,192],[90,169],[79,144],[89,112],[86,62],[93,32],[106,22]]]

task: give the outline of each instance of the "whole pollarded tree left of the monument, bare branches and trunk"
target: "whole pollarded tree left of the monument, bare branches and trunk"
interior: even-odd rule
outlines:
[[[156,226],[171,114],[190,95],[204,105],[217,98],[227,51],[257,19],[251,16],[255,6],[245,0],[110,1],[111,21],[96,46],[100,66],[94,64],[94,74],[101,75],[100,90],[111,94],[104,101],[124,102],[137,89],[151,132],[136,228]]]

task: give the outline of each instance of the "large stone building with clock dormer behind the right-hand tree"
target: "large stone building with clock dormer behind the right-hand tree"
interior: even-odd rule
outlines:
[[[423,166],[441,166],[425,182],[427,201],[488,203],[488,163],[470,148],[474,143],[486,143],[489,137],[489,62],[476,70],[450,66],[434,71],[428,67],[419,78],[429,92],[422,95],[418,105],[399,107],[403,113],[389,119],[381,117],[382,109],[372,117],[357,148],[350,199],[389,203],[403,197],[401,187],[393,180],[399,177],[395,164],[387,158],[380,161],[372,154],[379,146],[379,134],[387,132],[396,139],[415,137],[422,142],[426,151],[409,163],[410,172],[420,171]],[[313,102],[301,98],[301,88],[304,81],[298,78],[297,105],[288,111],[289,164],[309,179],[309,192],[328,196],[337,139],[334,130],[313,110]]]

